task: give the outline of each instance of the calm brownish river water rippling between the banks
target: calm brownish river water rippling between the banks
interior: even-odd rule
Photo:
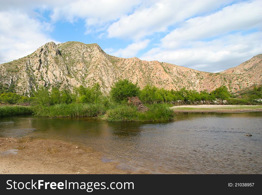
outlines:
[[[245,133],[252,137],[244,136]],[[101,152],[102,161],[152,173],[262,174],[262,112],[178,113],[171,122],[93,118],[0,118],[0,137],[60,139]]]

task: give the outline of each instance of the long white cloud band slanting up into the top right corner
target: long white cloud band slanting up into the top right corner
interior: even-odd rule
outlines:
[[[167,34],[161,41],[165,48],[188,46],[189,41],[221,36],[232,31],[262,25],[262,1],[243,2],[214,14],[191,18]]]

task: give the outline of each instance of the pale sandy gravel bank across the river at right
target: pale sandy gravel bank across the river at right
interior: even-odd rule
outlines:
[[[171,107],[175,112],[252,112],[262,111],[262,106],[251,105],[183,105]]]

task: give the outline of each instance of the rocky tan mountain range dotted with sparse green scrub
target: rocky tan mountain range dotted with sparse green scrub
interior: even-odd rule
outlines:
[[[13,85],[18,93],[26,95],[40,86],[72,90],[74,86],[92,86],[96,82],[107,93],[114,82],[123,78],[141,88],[152,84],[165,89],[185,87],[210,92],[226,85],[237,91],[261,83],[261,55],[235,67],[236,70],[208,73],[165,62],[110,56],[96,43],[49,42],[26,57],[1,64],[0,84]]]

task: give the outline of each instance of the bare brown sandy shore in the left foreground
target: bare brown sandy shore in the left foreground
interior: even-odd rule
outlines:
[[[0,138],[0,174],[149,174],[102,162],[90,148],[58,140]]]

